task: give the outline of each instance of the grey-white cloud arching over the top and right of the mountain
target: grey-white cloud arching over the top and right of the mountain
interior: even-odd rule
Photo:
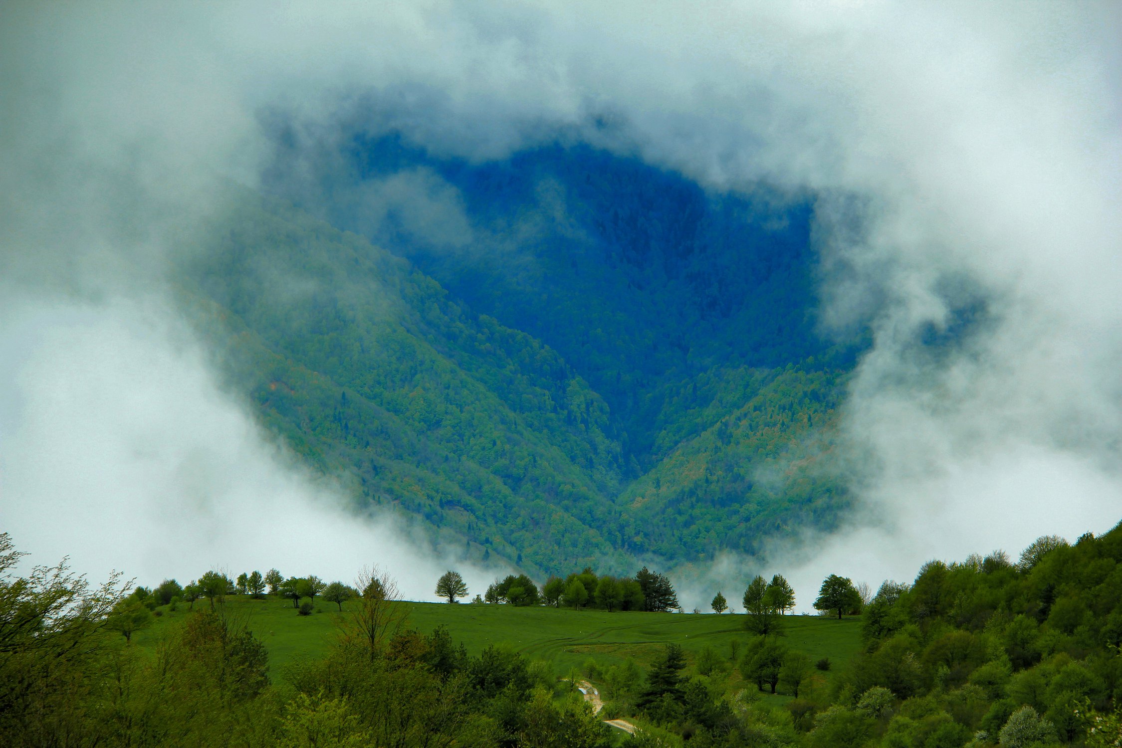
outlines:
[[[844,419],[864,529],[806,546],[808,579],[908,575],[1122,514],[1116,4],[10,11],[8,294],[158,286],[166,237],[211,214],[215,181],[256,182],[267,112],[361,116],[477,160],[579,138],[711,190],[765,181],[818,201],[822,318],[874,345]],[[466,241],[454,195],[394,179],[378,210]]]

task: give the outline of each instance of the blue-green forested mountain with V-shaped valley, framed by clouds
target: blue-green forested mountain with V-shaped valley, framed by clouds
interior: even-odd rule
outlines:
[[[278,163],[180,275],[263,423],[360,504],[533,573],[837,520],[859,347],[815,332],[811,203],[585,146],[348,158],[327,200]]]

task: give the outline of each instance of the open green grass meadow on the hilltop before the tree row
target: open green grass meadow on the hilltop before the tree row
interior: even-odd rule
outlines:
[[[334,603],[319,603],[320,612],[297,616],[291,602],[274,597],[265,600],[230,597],[224,604],[228,615],[245,620],[249,630],[265,644],[274,680],[283,678],[289,663],[324,655],[335,639],[340,616],[348,615],[348,603],[343,603],[342,613],[337,612]],[[491,644],[506,646],[528,658],[552,663],[558,677],[565,677],[574,669],[586,674],[589,661],[606,669],[631,658],[645,668],[668,643],[680,645],[691,665],[706,646],[729,659],[734,647],[743,647],[749,639],[743,615],[609,613],[436,602],[397,604],[408,608],[406,626],[410,628],[429,632],[444,625],[452,639],[462,641],[470,654],[478,654]],[[195,603],[196,609],[206,607],[204,600]],[[162,609],[155,626],[137,632],[137,646],[156,641],[162,631],[187,615],[186,606],[182,604],[175,612]],[[784,622],[783,639],[788,646],[806,652],[812,661],[829,657],[835,667],[825,674],[826,678],[834,676],[838,666],[859,648],[861,621],[857,618],[839,621],[818,616],[788,616]],[[726,668],[723,677],[730,691],[745,685],[735,667]],[[595,675],[589,680],[595,683]],[[789,699],[767,698],[774,699],[776,704]]]

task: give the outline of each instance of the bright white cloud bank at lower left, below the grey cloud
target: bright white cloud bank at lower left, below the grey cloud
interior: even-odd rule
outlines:
[[[224,393],[158,302],[30,301],[0,325],[4,530],[35,563],[72,556],[138,583],[278,567],[352,582],[378,564],[413,599],[462,569],[405,518],[349,508]]]

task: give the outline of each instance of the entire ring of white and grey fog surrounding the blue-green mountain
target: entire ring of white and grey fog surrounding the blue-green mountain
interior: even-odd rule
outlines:
[[[861,510],[835,537],[723,558],[698,600],[783,571],[806,609],[828,572],[875,585],[1122,517],[1116,4],[2,15],[0,526],[36,562],[145,583],[380,562],[430,595],[441,552],[344,515],[222,390],[165,293],[169,248],[221,185],[255,184],[276,112],[362,112],[472,159],[580,138],[715,191],[816,196],[826,332],[874,333],[844,419]],[[964,306],[981,322],[931,354]]]

